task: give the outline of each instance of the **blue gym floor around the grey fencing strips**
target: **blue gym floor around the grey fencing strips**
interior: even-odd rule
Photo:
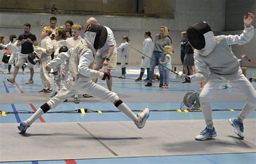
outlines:
[[[128,66],[126,78],[131,79],[119,79],[113,78],[113,92],[116,93],[149,93],[152,97],[157,96],[161,93],[166,92],[188,92],[190,90],[197,90],[200,92],[200,84],[181,84],[177,79],[174,78],[174,74],[171,74],[171,81],[169,84],[169,89],[161,89],[158,87],[159,83],[153,83],[152,87],[145,87],[146,82],[135,82],[133,79],[138,78],[139,70],[138,66]],[[179,69],[179,66],[178,66]],[[0,67],[0,70],[6,70],[6,65]],[[12,70],[13,71],[13,68]],[[6,79],[12,77],[12,74],[3,74],[0,72],[0,94],[2,93],[37,93],[42,90],[43,85],[39,77],[39,70],[35,68],[34,84],[25,85],[25,81],[29,79],[30,73],[28,69],[25,69],[26,74],[19,73],[16,77],[16,83],[18,85],[10,84]],[[21,72],[21,70],[20,70]],[[120,76],[120,66],[116,71],[112,72],[112,76]],[[256,73],[256,69],[247,69],[247,77],[251,77],[252,73]],[[144,78],[146,75],[144,74]],[[98,80],[98,84],[106,87],[106,82]],[[256,83],[252,82],[254,89]],[[20,88],[18,88],[18,86]],[[238,92],[231,86],[221,86],[217,91],[219,93],[226,92]],[[50,99],[50,95],[49,95]],[[83,99],[80,97],[80,99]],[[84,98],[86,99],[86,98]],[[170,97],[170,99],[172,99]],[[0,100],[1,101],[1,100]],[[32,102],[31,102],[32,103]],[[150,110],[177,110],[180,108],[181,102],[144,102],[144,103],[126,103],[132,110],[143,110],[145,107],[149,107]],[[16,110],[28,110],[33,111],[32,107],[35,106],[37,109],[42,104],[5,104],[0,102],[0,110],[6,112],[12,112]],[[212,102],[212,109],[218,110],[240,110],[244,106],[244,101],[233,101],[233,102]],[[80,103],[74,104],[72,102],[63,103],[55,108],[55,111],[65,111],[65,110],[77,110],[78,108],[89,108],[94,111],[104,111],[104,110],[117,110],[111,103]],[[185,108],[185,106],[183,107]],[[230,119],[238,115],[240,111],[214,111],[213,119]],[[5,117],[0,117],[0,123],[15,123],[21,122],[28,119],[31,114],[7,114]],[[83,121],[127,121],[130,120],[123,113],[87,113],[86,115],[81,115],[79,113],[65,114],[65,113],[50,113],[44,114],[43,120],[45,122],[83,122]],[[255,119],[256,112],[252,112],[247,119]],[[190,119],[203,119],[203,114],[201,112],[151,112],[149,121],[152,120],[190,120]],[[37,120],[36,122],[42,122],[42,120]],[[202,129],[203,130],[203,129]],[[245,125],[246,131],[246,125]],[[18,129],[17,129],[18,133]],[[175,132],[173,132],[175,133]],[[200,133],[200,132],[198,132]],[[255,134],[256,137],[256,134]],[[170,138],[171,140],[171,138]],[[8,142],[8,141],[6,141]],[[207,146],[207,144],[206,144]],[[22,149],[21,149],[22,151]],[[1,149],[0,149],[1,153]],[[88,152],[83,153],[90,153]],[[11,155],[11,154],[10,154]],[[43,154],[42,154],[43,155]],[[57,161],[27,161],[27,162],[2,162],[2,163],[256,163],[256,153],[238,153],[238,154],[201,154],[201,155],[181,155],[181,156],[151,156],[151,157],[141,157],[141,158],[110,158],[110,159],[86,159],[86,160],[57,160]]]

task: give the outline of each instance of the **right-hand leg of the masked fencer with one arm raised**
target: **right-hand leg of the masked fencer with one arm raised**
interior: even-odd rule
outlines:
[[[242,108],[242,111],[239,113],[238,117],[231,118],[229,120],[230,124],[234,127],[235,134],[237,134],[240,138],[245,138],[243,121],[252,111],[255,110],[255,90],[250,81],[248,81],[248,79],[244,76],[244,74],[240,74],[238,78],[232,80],[230,84],[233,87],[237,88],[237,90],[240,91],[242,94],[244,94],[246,98],[246,104]]]

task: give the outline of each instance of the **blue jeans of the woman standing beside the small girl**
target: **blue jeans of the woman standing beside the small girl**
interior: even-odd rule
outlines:
[[[153,80],[153,76],[154,76],[154,67],[156,66],[156,64],[158,63],[158,67],[159,67],[159,73],[160,73],[160,83],[163,84],[164,82],[164,68],[163,66],[160,64],[159,59],[161,57],[164,57],[164,53],[163,52],[156,52],[153,51],[152,53],[152,59],[150,60],[150,76],[149,76],[149,81],[152,83]]]

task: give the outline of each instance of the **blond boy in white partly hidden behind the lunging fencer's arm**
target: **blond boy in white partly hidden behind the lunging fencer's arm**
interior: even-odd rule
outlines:
[[[66,39],[66,43],[68,44],[68,49],[75,47],[81,40],[84,40],[81,35],[82,26],[75,23],[71,26],[72,37]],[[65,74],[65,77],[68,77],[69,72],[69,60],[65,61],[65,64],[62,65],[62,73]],[[78,97],[78,93],[74,96],[74,103],[79,104],[80,99]]]

